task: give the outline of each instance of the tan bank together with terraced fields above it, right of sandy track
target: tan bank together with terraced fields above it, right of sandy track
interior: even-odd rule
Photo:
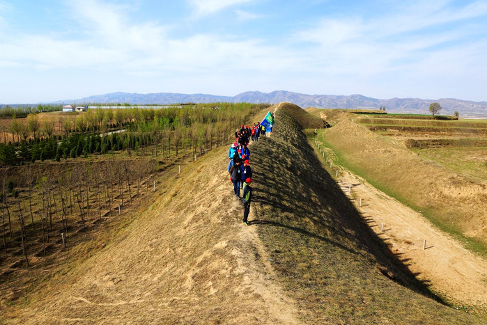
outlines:
[[[485,161],[481,158],[486,152],[485,136],[452,133],[448,132],[449,128],[428,132],[427,122],[438,122],[435,120],[422,121],[425,129],[413,132],[393,128],[373,132],[369,125],[360,124],[364,118],[370,122],[370,116],[333,110],[314,110],[314,113],[326,116],[335,125],[322,135],[340,164],[416,211],[422,211],[433,224],[485,256],[487,185]],[[382,117],[374,118],[374,123]],[[401,120],[397,121],[398,125]],[[474,123],[484,125],[482,121]],[[431,146],[440,148],[431,149]],[[434,157],[428,157],[431,150],[435,150]],[[457,161],[449,160],[452,152]]]

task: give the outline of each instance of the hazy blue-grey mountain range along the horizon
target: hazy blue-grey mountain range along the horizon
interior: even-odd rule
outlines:
[[[429,105],[438,102],[442,106],[440,114],[453,115],[455,111],[460,113],[461,118],[487,118],[487,102],[472,102],[467,100],[456,100],[454,98],[441,98],[439,100],[422,100],[419,98],[392,98],[389,100],[378,100],[376,98],[362,95],[306,95],[278,90],[272,93],[261,93],[260,91],[247,91],[239,95],[216,96],[207,94],[178,94],[178,93],[110,93],[96,95],[80,100],[63,100],[64,102],[76,104],[92,103],[129,103],[129,104],[180,104],[186,102],[211,103],[211,102],[252,102],[277,104],[279,102],[291,102],[302,108],[318,107],[328,109],[378,109],[385,106],[389,113],[429,113]]]

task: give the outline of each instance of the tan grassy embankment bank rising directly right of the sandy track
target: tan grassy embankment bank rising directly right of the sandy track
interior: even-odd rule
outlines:
[[[334,129],[320,132],[318,139],[334,152],[337,157],[335,163],[364,177],[374,187],[416,211],[422,211],[433,224],[461,239],[472,251],[484,256],[487,254],[486,229],[479,227],[486,218],[485,179],[479,180],[470,176],[483,175],[478,172],[482,169],[478,160],[470,170],[467,170],[467,164],[462,161],[450,161],[446,166],[440,165],[424,159],[425,155],[419,154],[418,150],[415,150],[415,154],[398,145],[395,140],[397,136],[379,136],[351,122],[345,115],[330,115],[341,120],[341,124]],[[447,135],[451,134],[448,133],[448,128],[442,131]],[[401,135],[407,137],[408,134],[417,136],[417,133]],[[437,152],[442,152],[442,159],[445,160],[448,159],[445,152],[458,153],[462,150],[465,152],[467,149],[440,148]],[[481,153],[482,147],[470,147],[468,150]],[[454,164],[458,166],[451,168]],[[459,171],[464,173],[459,174]]]

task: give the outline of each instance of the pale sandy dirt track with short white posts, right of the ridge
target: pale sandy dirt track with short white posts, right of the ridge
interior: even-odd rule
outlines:
[[[369,224],[419,280],[455,306],[487,311],[487,262],[435,228],[422,214],[342,171],[341,189]],[[351,193],[348,193],[351,185]],[[355,198],[355,199],[354,199]],[[360,206],[362,198],[362,206]],[[382,223],[383,231],[382,231]],[[426,239],[426,249],[423,249]]]

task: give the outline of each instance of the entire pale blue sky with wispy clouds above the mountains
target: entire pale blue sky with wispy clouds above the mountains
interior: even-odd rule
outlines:
[[[0,103],[288,90],[487,100],[487,1],[0,0]]]

